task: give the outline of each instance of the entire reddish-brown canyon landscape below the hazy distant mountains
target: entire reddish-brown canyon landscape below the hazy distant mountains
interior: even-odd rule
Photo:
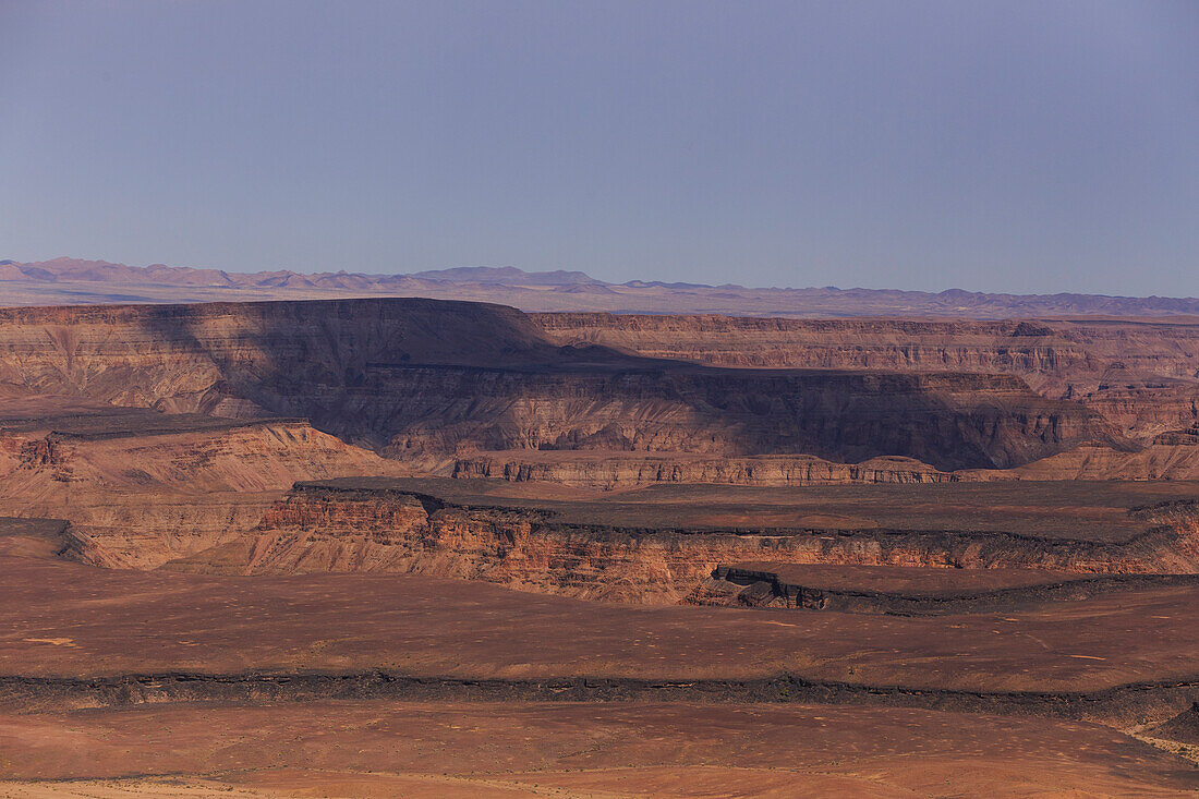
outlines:
[[[0,308],[2,797],[1199,791],[1199,325]]]

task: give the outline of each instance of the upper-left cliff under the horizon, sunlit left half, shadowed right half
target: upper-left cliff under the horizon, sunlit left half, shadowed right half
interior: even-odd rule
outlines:
[[[227,398],[276,413],[321,408],[339,396],[332,389],[361,384],[369,364],[532,365],[555,353],[519,311],[468,302],[0,308],[10,392],[175,411],[219,410]]]

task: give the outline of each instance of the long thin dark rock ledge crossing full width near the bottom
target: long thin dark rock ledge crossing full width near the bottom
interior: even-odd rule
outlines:
[[[128,707],[161,702],[796,702],[1043,716],[1133,726],[1164,721],[1199,701],[1199,677],[1128,683],[1097,691],[965,691],[809,680],[650,680],[564,677],[470,679],[386,671],[206,674],[162,672],[96,678],[0,675],[0,704]]]

